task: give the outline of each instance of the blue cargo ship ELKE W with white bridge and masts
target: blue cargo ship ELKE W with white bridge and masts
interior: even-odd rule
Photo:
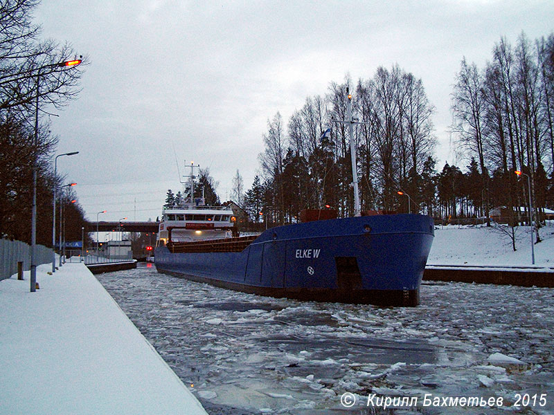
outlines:
[[[351,111],[348,116],[352,133]],[[418,305],[433,220],[420,214],[362,215],[352,170],[356,214],[350,218],[325,219],[330,210],[314,210],[303,223],[238,237],[229,207],[206,206],[202,198],[166,206],[155,250],[158,272],[271,297]],[[194,186],[193,172],[189,178]]]

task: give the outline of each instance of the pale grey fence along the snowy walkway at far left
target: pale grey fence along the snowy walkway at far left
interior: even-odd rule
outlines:
[[[17,273],[17,263],[23,262],[23,269],[30,270],[30,246],[25,242],[0,239],[0,279]],[[52,250],[37,245],[37,265],[52,262]]]

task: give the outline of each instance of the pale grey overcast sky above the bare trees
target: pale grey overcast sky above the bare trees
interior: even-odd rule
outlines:
[[[554,2],[42,0],[35,22],[90,59],[78,100],[51,117],[57,154],[80,151],[58,171],[88,219],[148,220],[181,188],[177,161],[181,175],[184,160],[209,167],[222,201],[237,169],[247,190],[268,118],[378,66],[422,79],[437,168],[464,167],[447,132],[461,59],[482,67],[502,36],[546,37]]]

